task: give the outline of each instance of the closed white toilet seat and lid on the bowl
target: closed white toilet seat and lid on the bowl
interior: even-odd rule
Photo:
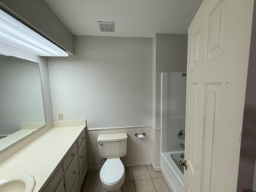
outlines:
[[[107,159],[100,170],[100,180],[108,186],[116,185],[124,178],[124,173],[120,158]]]

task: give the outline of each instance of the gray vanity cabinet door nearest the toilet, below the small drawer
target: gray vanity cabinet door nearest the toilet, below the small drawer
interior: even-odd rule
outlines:
[[[86,150],[86,140],[82,142],[80,148],[78,149],[78,162],[79,162],[79,175],[80,175],[80,186],[84,182],[84,177],[87,172],[87,150]]]

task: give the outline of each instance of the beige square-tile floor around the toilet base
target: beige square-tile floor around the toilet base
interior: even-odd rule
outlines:
[[[87,173],[81,192],[106,192],[100,185],[100,171]],[[125,168],[125,180],[121,192],[171,192],[160,171],[151,165]]]

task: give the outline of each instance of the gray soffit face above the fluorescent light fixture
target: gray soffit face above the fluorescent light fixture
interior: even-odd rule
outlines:
[[[74,54],[73,35],[43,0],[0,0],[0,8],[16,17],[18,14],[26,20],[26,24],[31,24],[48,38]],[[10,12],[8,8],[16,14]]]

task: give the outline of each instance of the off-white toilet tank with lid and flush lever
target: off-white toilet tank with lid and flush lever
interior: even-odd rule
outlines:
[[[98,146],[100,157],[117,158],[127,153],[127,133],[99,134]]]

